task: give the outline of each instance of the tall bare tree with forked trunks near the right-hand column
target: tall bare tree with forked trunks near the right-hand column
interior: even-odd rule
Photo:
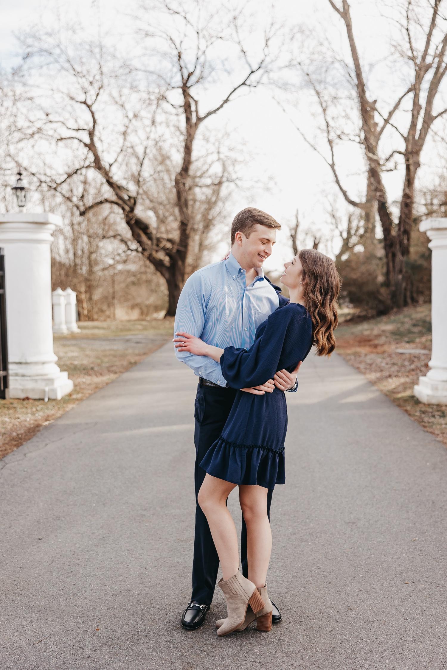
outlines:
[[[352,84],[355,93],[355,104],[359,111],[359,132],[355,137],[347,137],[343,129],[346,124],[346,112],[334,107],[334,96],[325,90],[324,85],[316,82],[316,77],[303,66],[306,78],[314,91],[322,113],[324,137],[329,157],[304,136],[304,139],[326,161],[334,181],[344,200],[363,212],[364,241],[373,241],[375,230],[375,214],[379,215],[383,231],[383,247],[385,251],[386,275],[385,282],[389,288],[390,304],[401,307],[413,301],[411,275],[406,267],[409,257],[411,228],[414,224],[414,193],[420,156],[426,143],[432,124],[447,109],[435,111],[435,103],[439,98],[439,90],[446,74],[447,32],[446,19],[440,14],[442,0],[416,3],[414,0],[403,0],[394,6],[400,9],[399,27],[403,35],[403,44],[399,46],[397,56],[403,64],[411,63],[413,74],[400,94],[390,105],[387,112],[382,112],[377,95],[369,90],[365,68],[357,47],[357,38],[350,14],[348,0],[328,0],[332,9],[344,23],[351,64],[342,62],[339,55],[332,53],[333,63],[340,65],[346,80]],[[428,19],[428,20],[426,20]],[[422,42],[420,36],[423,36]],[[420,44],[421,42],[421,44]],[[401,73],[399,73],[400,76]],[[400,84],[400,80],[399,80]],[[401,109],[403,100],[411,100],[411,109],[406,116]],[[344,100],[346,105],[346,100]],[[396,121],[396,118],[398,120]],[[405,118],[408,120],[405,121]],[[349,120],[350,123],[352,120]],[[355,125],[355,122],[353,123]],[[338,126],[338,127],[336,127]],[[381,149],[386,141],[394,143],[391,151]],[[342,183],[342,177],[336,165],[336,145],[341,140],[354,139],[363,147],[366,163],[366,194],[365,200],[351,196]],[[384,183],[384,174],[397,169],[399,159],[403,166],[403,189],[399,201],[397,217],[393,215],[393,204],[389,201]]]

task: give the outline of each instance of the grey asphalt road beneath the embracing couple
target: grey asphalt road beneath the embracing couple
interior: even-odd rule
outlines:
[[[447,450],[336,355],[288,394],[283,621],[218,639],[217,589],[180,627],[195,390],[170,342],[0,462],[1,669],[446,669]]]

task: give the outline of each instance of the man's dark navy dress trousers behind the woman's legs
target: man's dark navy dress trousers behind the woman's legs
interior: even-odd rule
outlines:
[[[196,465],[194,483],[196,487],[196,529],[194,532],[194,559],[192,563],[192,596],[200,604],[210,605],[216,586],[219,558],[212,541],[208,521],[197,503],[197,496],[206,472],[198,466],[213,442],[218,439],[227,421],[235,399],[235,389],[211,386],[197,387],[194,402],[194,444]],[[267,493],[267,515],[270,519],[270,504],[273,490]],[[243,575],[247,577],[247,526],[242,517],[241,563]]]

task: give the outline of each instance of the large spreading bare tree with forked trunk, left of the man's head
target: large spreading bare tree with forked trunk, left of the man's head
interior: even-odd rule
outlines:
[[[68,149],[70,167],[58,178],[54,165],[47,170],[30,165],[29,172],[70,198],[82,216],[99,207],[121,212],[137,250],[164,277],[167,316],[173,316],[192,236],[195,232],[206,238],[220,209],[222,190],[231,182],[218,147],[208,170],[194,167],[194,147],[201,142],[198,131],[238,94],[263,82],[281,54],[281,44],[271,23],[257,55],[251,56],[243,44],[243,13],[214,11],[204,2],[185,6],[172,0],[157,6],[155,23],[153,7],[150,14],[147,11],[147,29],[142,30],[135,62],[119,62],[101,44],[72,41],[70,50],[66,34],[40,30],[24,38],[25,66],[33,76],[39,72],[47,95],[43,98],[40,90],[34,96],[38,105],[21,131],[27,139],[46,137]],[[144,13],[139,19],[144,25]],[[226,86],[227,91],[216,104],[206,106],[200,96],[209,98],[216,62],[225,64],[222,70],[228,72],[229,50],[235,72],[229,72],[227,84],[220,82],[220,91]],[[28,86],[36,90],[36,79]],[[169,198],[159,202],[155,186],[165,180],[166,187],[173,165]],[[80,172],[96,175],[92,179],[101,191],[98,198],[86,199],[82,189],[75,196],[68,194],[68,182],[76,181]]]

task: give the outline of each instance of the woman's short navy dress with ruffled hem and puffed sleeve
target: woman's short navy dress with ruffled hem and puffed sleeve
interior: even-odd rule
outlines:
[[[279,307],[259,324],[253,346],[227,346],[220,357],[222,374],[233,389],[259,386],[277,371],[294,371],[312,347],[312,319],[298,303]],[[253,395],[238,391],[218,440],[200,468],[233,484],[284,484],[285,393]]]

